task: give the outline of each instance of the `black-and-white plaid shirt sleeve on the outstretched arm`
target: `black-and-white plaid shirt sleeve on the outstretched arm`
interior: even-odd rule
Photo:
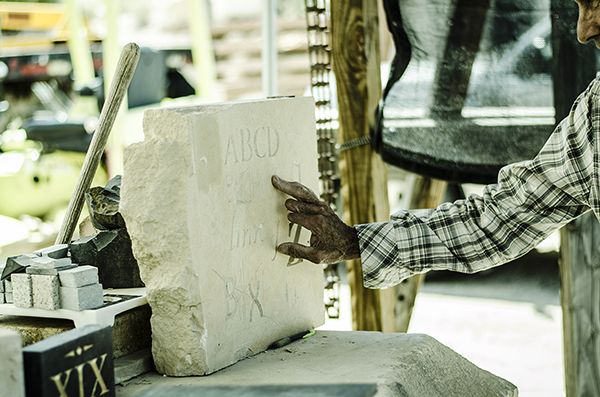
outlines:
[[[356,225],[364,285],[386,288],[429,270],[474,273],[516,259],[574,218],[599,210],[600,80],[531,161],[500,170],[482,196]]]

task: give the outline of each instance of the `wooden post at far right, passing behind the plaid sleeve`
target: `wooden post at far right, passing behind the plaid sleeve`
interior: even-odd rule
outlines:
[[[577,5],[552,0],[556,121],[596,75],[593,43],[577,43]],[[567,397],[600,396],[600,225],[590,212],[561,230],[560,300]]]

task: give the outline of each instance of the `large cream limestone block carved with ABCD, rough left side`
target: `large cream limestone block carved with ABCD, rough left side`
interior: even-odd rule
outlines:
[[[271,176],[318,192],[312,98],[150,109],[126,149],[120,211],[152,308],[159,372],[204,375],[323,324],[323,271]]]

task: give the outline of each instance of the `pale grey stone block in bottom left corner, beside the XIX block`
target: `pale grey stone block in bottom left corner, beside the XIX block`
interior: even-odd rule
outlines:
[[[25,378],[21,335],[16,331],[0,329],[0,346],[0,395],[23,397]]]

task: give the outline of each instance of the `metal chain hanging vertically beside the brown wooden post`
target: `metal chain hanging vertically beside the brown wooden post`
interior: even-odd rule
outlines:
[[[331,90],[331,41],[329,36],[329,0],[305,0],[308,31],[308,55],[310,60],[311,93],[315,98],[317,120],[317,148],[319,152],[319,179],[321,199],[334,210],[340,191],[340,176],[336,150],[337,120],[332,108]],[[339,318],[339,272],[338,265],[326,265],[325,308],[329,318]]]

